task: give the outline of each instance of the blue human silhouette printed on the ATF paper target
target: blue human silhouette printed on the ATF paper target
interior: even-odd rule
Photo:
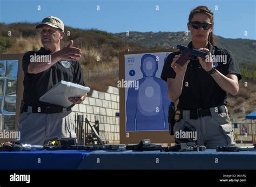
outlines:
[[[126,131],[169,130],[167,85],[156,77],[156,56],[145,54],[140,70],[139,89],[129,88],[126,100]]]

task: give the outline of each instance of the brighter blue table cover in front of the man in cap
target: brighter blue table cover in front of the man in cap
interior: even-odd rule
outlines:
[[[30,152],[0,152],[2,169],[77,169],[90,151],[31,150]]]

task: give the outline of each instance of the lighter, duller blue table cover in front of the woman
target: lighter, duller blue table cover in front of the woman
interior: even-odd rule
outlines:
[[[85,157],[78,169],[256,169],[256,151],[111,152],[99,150]]]

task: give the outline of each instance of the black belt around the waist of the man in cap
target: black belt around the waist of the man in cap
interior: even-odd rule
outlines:
[[[22,103],[21,110],[22,112],[32,112],[32,113],[62,113],[66,111],[71,111],[71,105],[68,108],[61,107],[61,106],[50,106],[50,107],[41,107],[41,106],[29,106],[25,103]]]

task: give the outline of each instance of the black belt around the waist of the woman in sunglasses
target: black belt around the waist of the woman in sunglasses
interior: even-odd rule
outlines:
[[[225,111],[224,106],[217,106],[218,113],[223,113]],[[183,111],[180,111],[180,117],[183,118]],[[200,117],[211,116],[210,109],[197,109],[197,110],[190,110],[190,119],[198,119]]]

